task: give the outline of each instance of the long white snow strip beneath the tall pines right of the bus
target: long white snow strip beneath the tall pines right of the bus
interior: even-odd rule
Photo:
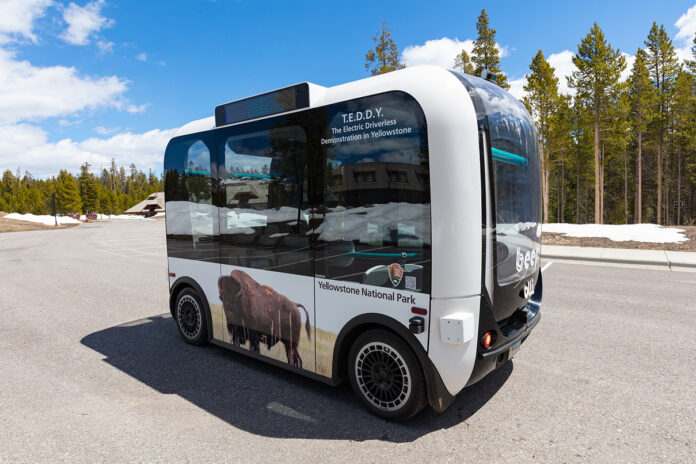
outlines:
[[[544,224],[542,230],[568,237],[608,238],[614,242],[679,243],[689,240],[683,229],[657,224]]]

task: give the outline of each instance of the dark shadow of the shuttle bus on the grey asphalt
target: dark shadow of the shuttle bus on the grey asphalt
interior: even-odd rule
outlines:
[[[429,407],[404,423],[367,412],[347,382],[332,387],[214,346],[184,343],[169,314],[87,335],[104,361],[162,394],[175,394],[225,422],[275,438],[409,442],[474,415],[503,386],[512,362],[466,388],[444,413]]]

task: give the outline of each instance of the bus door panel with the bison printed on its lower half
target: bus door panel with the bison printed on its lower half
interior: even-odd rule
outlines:
[[[291,117],[216,131],[221,330],[216,338],[315,371],[307,134]]]

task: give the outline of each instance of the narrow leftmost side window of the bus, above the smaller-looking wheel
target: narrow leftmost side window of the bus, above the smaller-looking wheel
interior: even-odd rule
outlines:
[[[167,246],[173,257],[217,261],[211,134],[174,139],[165,153]]]

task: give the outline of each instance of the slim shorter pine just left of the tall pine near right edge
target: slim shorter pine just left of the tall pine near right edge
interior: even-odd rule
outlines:
[[[646,59],[645,50],[639,48],[628,80],[630,119],[636,137],[636,193],[633,201],[636,224],[643,222],[643,136],[650,123],[655,100],[650,74],[645,66]]]

